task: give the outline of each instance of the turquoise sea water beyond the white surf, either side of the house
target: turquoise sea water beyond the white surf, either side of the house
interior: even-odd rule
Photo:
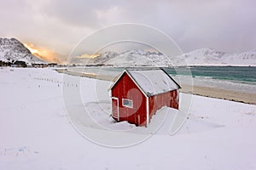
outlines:
[[[84,71],[116,76],[125,68],[87,67]],[[190,66],[164,68],[171,76],[192,76],[256,86],[256,66]]]

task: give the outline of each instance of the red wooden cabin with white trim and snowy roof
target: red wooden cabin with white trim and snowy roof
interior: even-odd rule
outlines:
[[[178,109],[179,88],[162,69],[125,70],[110,87],[112,116],[117,122],[147,126],[161,107]]]

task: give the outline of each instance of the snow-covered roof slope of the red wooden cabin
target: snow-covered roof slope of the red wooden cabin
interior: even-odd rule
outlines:
[[[162,69],[127,70],[127,72],[148,96],[162,94],[180,88],[177,82]]]

